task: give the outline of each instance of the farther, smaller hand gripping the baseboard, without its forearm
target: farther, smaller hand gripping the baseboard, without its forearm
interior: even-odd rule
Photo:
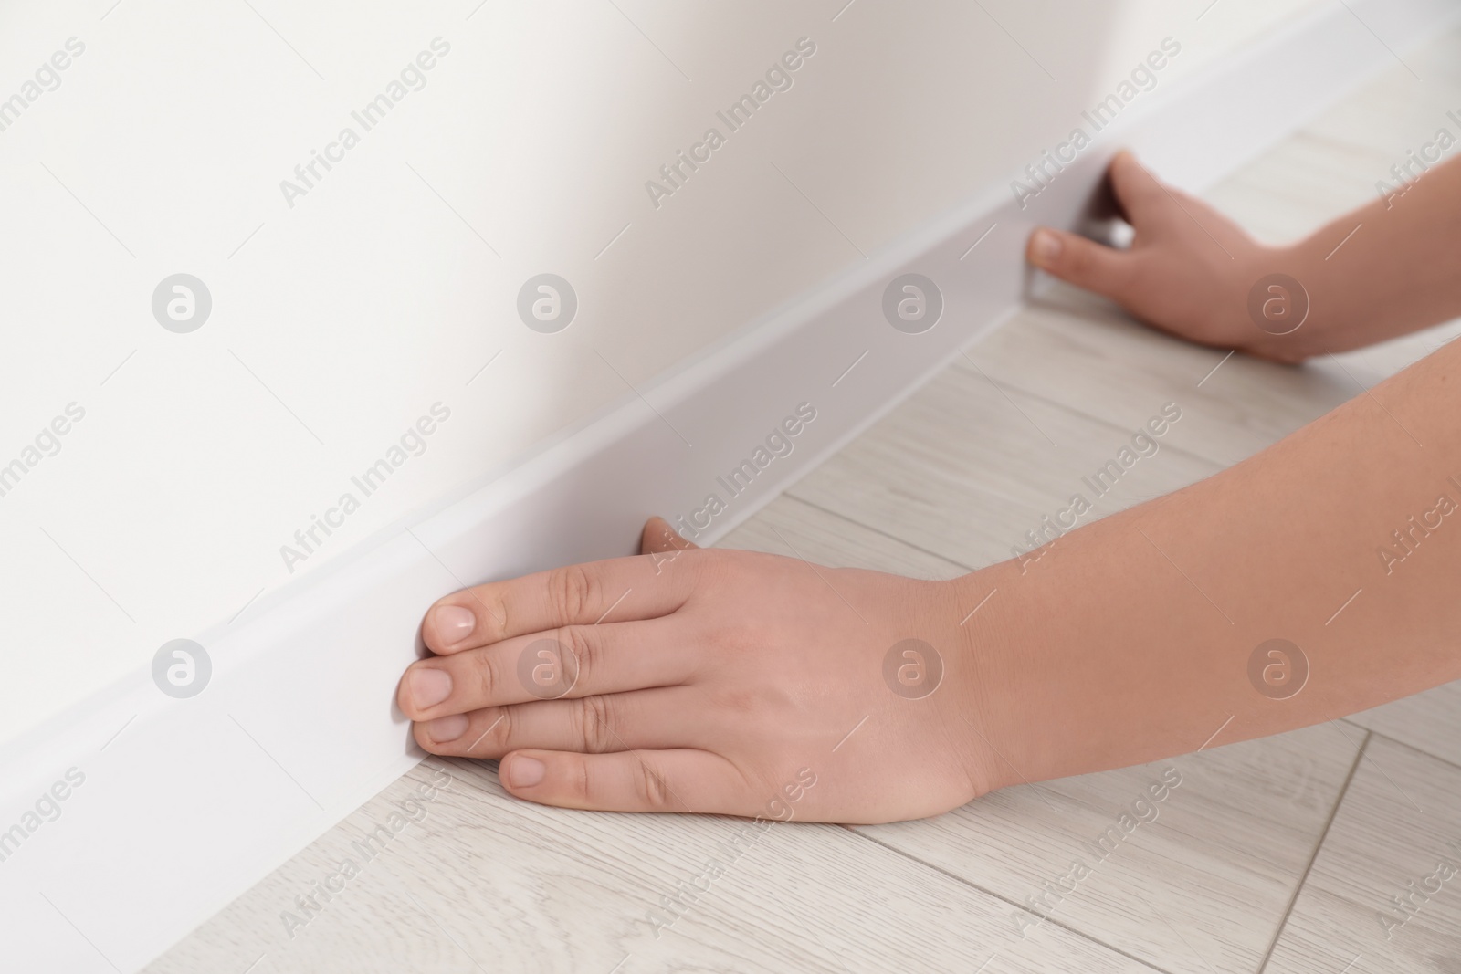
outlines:
[[[1293,250],[1262,247],[1207,203],[1163,185],[1129,152],[1116,153],[1107,177],[1137,231],[1131,247],[1040,228],[1026,250],[1031,264],[1189,342],[1275,362],[1313,353],[1312,323],[1308,331],[1275,336],[1248,312],[1249,291],[1261,277],[1292,273]]]

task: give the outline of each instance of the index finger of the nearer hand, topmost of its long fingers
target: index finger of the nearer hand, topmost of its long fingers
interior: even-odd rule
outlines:
[[[513,635],[593,625],[611,609],[619,619],[669,615],[694,588],[693,561],[681,555],[671,571],[653,558],[612,558],[463,588],[427,610],[421,635],[432,653],[459,653]]]

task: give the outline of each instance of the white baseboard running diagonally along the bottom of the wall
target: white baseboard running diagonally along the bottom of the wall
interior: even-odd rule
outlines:
[[[1384,23],[1397,50],[1461,9],[1351,6]],[[392,701],[431,600],[463,583],[633,553],[647,515],[690,517],[709,494],[726,508],[698,540],[722,536],[1014,311],[1031,226],[1077,225],[1119,145],[1199,188],[1391,63],[1356,26],[1343,6],[1327,7],[1153,92],[1027,209],[1007,185],[988,187],[641,390],[653,407],[630,397],[199,634],[215,667],[202,695],[165,698],[137,672],[13,740],[0,752],[0,829],[26,821],[69,770],[83,781],[60,789],[58,818],[37,816],[13,847],[0,844],[0,967],[145,965],[419,761]],[[906,272],[944,296],[922,334],[882,317],[887,283]],[[799,403],[817,416],[792,453],[729,496],[717,478]],[[679,431],[695,431],[694,445]]]

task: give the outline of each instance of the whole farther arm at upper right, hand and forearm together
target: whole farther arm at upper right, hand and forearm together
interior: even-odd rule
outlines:
[[[1137,231],[1131,248],[1042,229],[1031,235],[1027,256],[1154,329],[1296,364],[1461,312],[1461,166],[1454,159],[1404,194],[1378,199],[1284,247],[1258,244],[1202,200],[1160,184],[1131,153],[1118,153],[1107,175]],[[1292,334],[1268,334],[1249,318],[1248,292],[1271,273],[1293,276],[1309,294],[1309,317]]]

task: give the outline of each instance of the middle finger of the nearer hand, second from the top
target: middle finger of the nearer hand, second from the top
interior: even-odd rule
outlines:
[[[685,645],[663,619],[517,635],[412,663],[396,704],[412,720],[434,720],[482,707],[674,686],[694,672],[697,657]]]

